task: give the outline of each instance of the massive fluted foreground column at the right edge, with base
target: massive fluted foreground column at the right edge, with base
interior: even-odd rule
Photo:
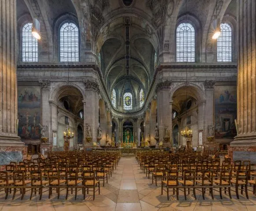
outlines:
[[[238,134],[235,137],[234,142],[230,143],[228,149],[229,156],[233,159],[237,159],[236,155],[239,154],[239,152],[233,153],[234,151],[256,151],[256,0],[237,0],[237,8]],[[249,155],[244,153],[244,156],[247,156],[248,158]]]

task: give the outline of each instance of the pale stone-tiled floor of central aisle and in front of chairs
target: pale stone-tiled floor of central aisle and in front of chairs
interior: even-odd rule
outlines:
[[[220,200],[219,193],[215,191],[215,199],[211,200],[207,191],[207,199],[203,200],[198,191],[197,200],[190,194],[185,201],[183,192],[180,191],[179,201],[175,196],[167,201],[166,193],[161,195],[160,183],[158,187],[151,183],[152,180],[145,177],[135,158],[121,158],[112,178],[105,187],[101,187],[101,193],[96,194],[94,201],[92,196],[82,200],[81,192],[77,200],[71,194],[65,200],[66,192],[63,191],[58,200],[55,193],[48,199],[46,191],[41,201],[39,196],[29,200],[30,191],[26,193],[24,200],[20,200],[19,192],[15,200],[11,200],[12,194],[4,200],[4,193],[1,192],[0,211],[256,211],[256,196],[252,192],[249,193],[249,200],[245,196],[240,196],[240,200],[237,200],[235,193],[232,193],[232,200],[225,194],[224,199]]]

